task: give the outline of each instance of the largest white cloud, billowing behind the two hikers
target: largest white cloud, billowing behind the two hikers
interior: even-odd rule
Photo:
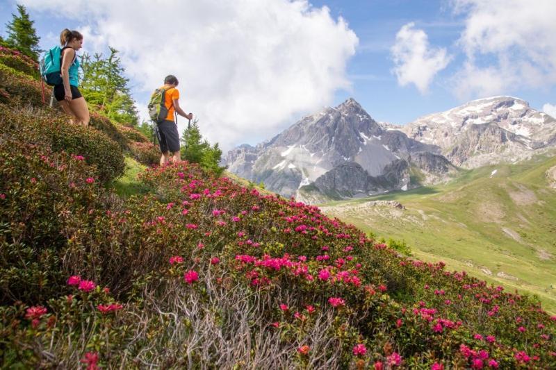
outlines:
[[[165,75],[176,75],[181,106],[224,149],[271,137],[350,88],[345,67],[357,36],[307,1],[22,2],[79,19],[90,51],[119,50],[142,106]]]

